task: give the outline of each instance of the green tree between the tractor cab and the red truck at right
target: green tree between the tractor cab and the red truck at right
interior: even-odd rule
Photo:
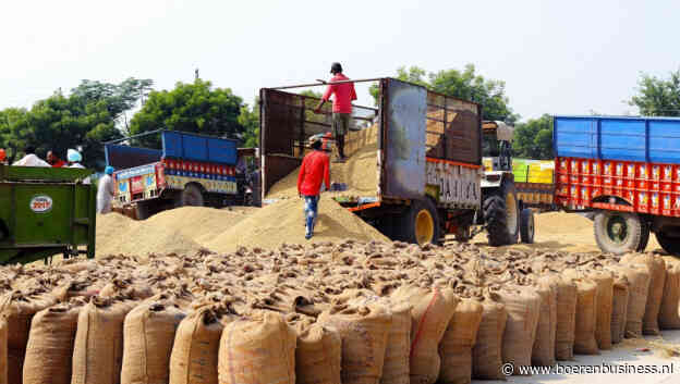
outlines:
[[[539,119],[517,124],[512,150],[517,158],[552,159],[552,116],[544,114]]]

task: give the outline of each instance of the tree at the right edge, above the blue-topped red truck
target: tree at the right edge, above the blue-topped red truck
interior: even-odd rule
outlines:
[[[638,107],[646,116],[680,116],[680,70],[670,73],[668,79],[641,74],[638,94],[629,104]]]

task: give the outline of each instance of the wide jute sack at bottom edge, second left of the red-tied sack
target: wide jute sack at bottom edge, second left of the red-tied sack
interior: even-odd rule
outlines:
[[[382,376],[392,315],[382,306],[333,307],[317,323],[332,326],[342,339],[342,384],[377,384]]]

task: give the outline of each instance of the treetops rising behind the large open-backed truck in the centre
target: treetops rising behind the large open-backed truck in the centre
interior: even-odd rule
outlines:
[[[411,66],[409,70],[402,66],[397,70],[397,78],[425,86],[446,96],[478,102],[482,104],[484,120],[500,120],[510,124],[519,120],[519,115],[508,106],[506,83],[484,78],[475,73],[473,64],[465,65],[462,72],[446,70],[429,73],[418,66]],[[371,87],[376,104],[378,91],[377,85]]]

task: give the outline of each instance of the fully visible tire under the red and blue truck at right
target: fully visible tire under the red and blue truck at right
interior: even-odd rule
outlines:
[[[636,252],[643,240],[643,223],[636,213],[599,211],[595,214],[595,240],[603,252]]]

